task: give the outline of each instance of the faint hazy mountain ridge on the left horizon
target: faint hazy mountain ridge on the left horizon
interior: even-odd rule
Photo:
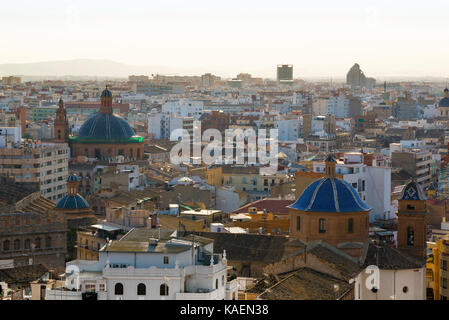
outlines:
[[[76,59],[34,63],[0,64],[0,76],[128,77],[132,74],[198,74],[198,68],[132,66],[110,60]]]

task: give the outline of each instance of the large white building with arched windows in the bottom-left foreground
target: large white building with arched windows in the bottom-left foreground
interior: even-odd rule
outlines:
[[[67,263],[65,289],[71,291],[47,290],[46,299],[237,299],[226,252],[213,254],[213,245],[200,236],[177,237],[175,230],[132,229],[101,248],[98,261]]]

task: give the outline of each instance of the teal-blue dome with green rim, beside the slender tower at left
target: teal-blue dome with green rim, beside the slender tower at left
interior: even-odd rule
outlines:
[[[113,114],[97,113],[81,126],[77,138],[129,139],[135,135],[130,125]]]

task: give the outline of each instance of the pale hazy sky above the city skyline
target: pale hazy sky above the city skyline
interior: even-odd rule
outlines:
[[[0,64],[107,59],[224,77],[449,77],[446,0],[14,0]]]

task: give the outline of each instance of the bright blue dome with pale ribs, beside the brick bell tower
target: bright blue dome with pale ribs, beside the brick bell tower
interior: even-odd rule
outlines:
[[[308,212],[371,210],[349,183],[336,178],[322,178],[313,182],[290,208]]]

